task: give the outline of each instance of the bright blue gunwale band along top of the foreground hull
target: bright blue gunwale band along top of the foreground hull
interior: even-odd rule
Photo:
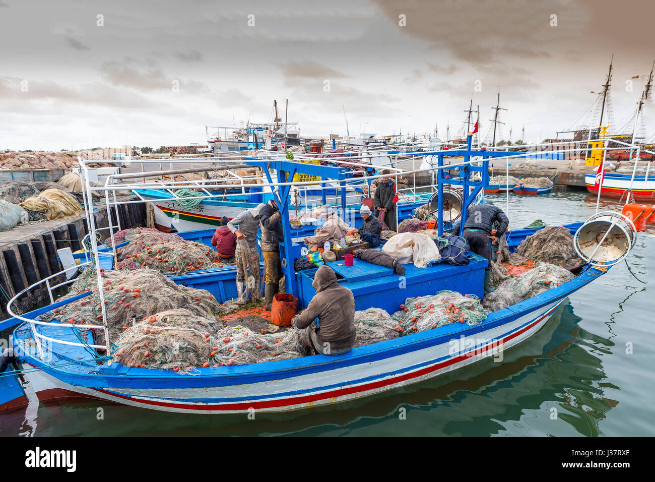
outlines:
[[[131,388],[134,380],[139,380],[140,383],[145,384],[144,388],[171,388],[171,382],[174,382],[176,388],[204,388],[209,386],[233,386],[235,384],[278,380],[394,357],[449,342],[453,340],[453,336],[471,336],[477,332],[506,325],[525,315],[527,312],[536,311],[563,300],[569,294],[584,287],[606,271],[588,267],[578,277],[563,283],[559,287],[554,287],[529,300],[519,302],[503,310],[490,313],[480,326],[460,326],[457,323],[453,323],[441,327],[439,329],[440,332],[428,330],[392,340],[384,340],[367,346],[353,348],[348,353],[339,355],[338,357],[311,355],[282,361],[233,365],[232,367],[198,368],[186,374],[160,369],[130,368],[118,363],[113,363],[111,367],[108,367],[106,364],[98,365],[98,368],[94,372],[79,373],[73,372],[70,369],[58,369],[56,365],[48,365],[34,357],[23,356],[22,358],[30,365],[58,373],[58,378],[64,381],[73,385],[88,386],[89,388],[105,388],[108,383],[113,388]],[[69,300],[64,301],[68,302]],[[44,309],[42,308],[41,310]],[[48,310],[45,309],[45,311]],[[531,322],[528,321],[523,326]],[[14,335],[26,324],[20,325],[14,331]],[[426,363],[432,363],[432,361]],[[85,368],[88,369],[88,367]],[[408,369],[413,369],[413,367],[403,367],[403,371],[407,371]]]

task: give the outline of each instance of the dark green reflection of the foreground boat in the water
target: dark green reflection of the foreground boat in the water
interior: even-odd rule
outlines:
[[[39,406],[38,416],[21,414],[22,422],[14,419],[13,428],[0,416],[0,434],[601,435],[599,422],[618,403],[605,394],[619,388],[607,379],[602,363],[614,343],[578,321],[565,302],[542,330],[507,350],[503,363],[484,359],[438,380],[337,408],[256,414],[248,420],[246,414],[175,414],[100,402]]]

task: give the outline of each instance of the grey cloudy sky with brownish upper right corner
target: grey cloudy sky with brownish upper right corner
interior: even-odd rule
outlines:
[[[616,123],[655,58],[655,2],[0,0],[0,149],[181,145],[205,125],[301,133],[482,132],[500,86],[507,138],[586,121],[614,54]],[[633,89],[626,89],[632,81]]]

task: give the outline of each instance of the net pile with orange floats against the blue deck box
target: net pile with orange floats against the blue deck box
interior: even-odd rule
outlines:
[[[457,291],[443,290],[437,294],[407,298],[392,318],[404,334],[411,334],[451,323],[477,327],[488,314],[489,311],[474,294],[462,295]]]

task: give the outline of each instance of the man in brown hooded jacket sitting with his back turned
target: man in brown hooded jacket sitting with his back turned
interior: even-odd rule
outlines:
[[[316,271],[312,287],[316,296],[307,310],[298,313],[291,325],[307,329],[317,353],[341,355],[355,342],[355,298],[348,288],[339,286],[332,268],[323,265]],[[318,317],[318,327],[314,319]]]

